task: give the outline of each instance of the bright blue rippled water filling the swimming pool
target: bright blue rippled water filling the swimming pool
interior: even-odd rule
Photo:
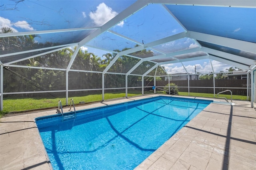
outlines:
[[[54,169],[133,169],[211,102],[154,97],[35,120]]]

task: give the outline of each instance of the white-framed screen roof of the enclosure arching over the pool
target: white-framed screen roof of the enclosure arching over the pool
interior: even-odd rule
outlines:
[[[37,35],[26,49],[6,51],[4,66],[77,46],[117,53],[159,65],[212,59],[250,70],[256,65],[255,0],[1,0],[4,38]],[[125,49],[125,50],[124,50]],[[140,55],[146,49],[152,55]],[[77,50],[67,71],[72,66]],[[185,70],[186,71],[186,70]]]

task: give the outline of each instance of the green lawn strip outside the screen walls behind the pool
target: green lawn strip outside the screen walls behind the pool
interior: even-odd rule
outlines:
[[[153,91],[144,91],[144,94],[152,94]],[[164,91],[157,91],[158,94],[164,94]],[[128,97],[141,95],[141,91],[136,90],[129,90]],[[188,92],[179,92],[180,96],[188,96]],[[206,98],[214,98],[213,94],[208,93],[190,93],[190,96],[194,97],[206,97]],[[120,92],[111,92],[105,93],[104,99],[115,99],[125,97],[125,93]],[[230,95],[220,95],[220,97],[226,97],[230,99]],[[216,96],[217,98],[217,96]],[[71,97],[68,98],[68,102],[70,101]],[[102,101],[102,94],[93,94],[87,95],[82,97],[72,97],[74,100],[74,104],[78,104],[79,102],[95,102],[95,101]],[[239,96],[239,95],[232,95],[232,99],[237,100],[247,100],[246,96]],[[5,113],[13,113],[13,112],[20,112],[20,111],[28,111],[28,110],[35,110],[35,109],[46,109],[51,107],[58,107],[58,101],[62,101],[62,105],[66,105],[66,98],[7,98],[3,101],[3,111],[0,112],[0,117]]]

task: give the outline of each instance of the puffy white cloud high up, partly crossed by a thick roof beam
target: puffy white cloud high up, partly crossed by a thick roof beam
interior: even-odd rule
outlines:
[[[118,13],[113,11],[112,8],[106,6],[106,4],[101,3],[97,6],[95,12],[90,12],[89,16],[93,20],[96,26],[102,26],[112,18],[114,18]],[[124,23],[121,22],[118,24],[122,26]]]

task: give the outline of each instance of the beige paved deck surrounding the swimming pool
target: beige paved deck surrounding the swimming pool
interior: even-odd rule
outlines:
[[[154,96],[158,95],[109,100],[76,110]],[[135,169],[256,170],[256,111],[248,101],[233,103],[211,103]],[[1,170],[50,170],[34,118],[53,114],[56,109],[8,114],[0,119]]]

